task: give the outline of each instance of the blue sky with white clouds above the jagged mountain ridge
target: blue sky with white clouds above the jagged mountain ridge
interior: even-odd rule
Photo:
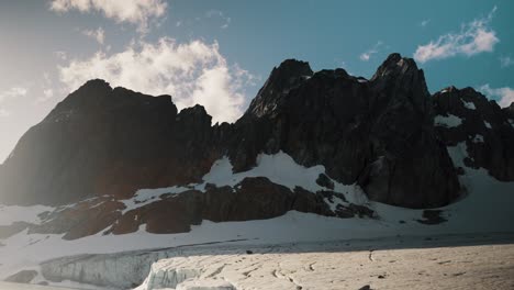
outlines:
[[[88,79],[233,122],[287,58],[370,78],[412,57],[431,92],[514,101],[514,1],[0,1],[0,163]]]

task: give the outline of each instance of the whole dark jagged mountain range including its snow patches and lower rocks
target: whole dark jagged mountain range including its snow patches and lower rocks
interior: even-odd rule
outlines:
[[[513,124],[512,105],[471,88],[431,96],[423,70],[399,54],[370,80],[284,60],[233,124],[90,80],[1,165],[0,203],[52,210],[0,236],[183,233],[289,211],[380,219],[368,201],[440,208],[466,198],[466,166],[514,181]],[[457,145],[463,165],[448,150]]]

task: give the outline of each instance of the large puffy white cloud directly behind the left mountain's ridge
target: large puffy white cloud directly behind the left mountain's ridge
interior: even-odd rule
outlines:
[[[89,59],[74,59],[58,69],[69,90],[89,79],[102,78],[112,86],[145,93],[169,93],[179,109],[200,103],[214,122],[232,122],[241,116],[244,88],[254,80],[237,65],[228,66],[217,43],[177,44],[167,37],[156,44],[131,44],[112,55],[98,52]]]

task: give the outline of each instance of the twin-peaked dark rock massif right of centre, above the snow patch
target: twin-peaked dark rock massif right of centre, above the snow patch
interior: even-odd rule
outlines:
[[[414,60],[392,54],[370,81],[344,69],[309,77],[304,66],[288,60],[273,69],[236,122],[230,146],[235,170],[250,168],[260,152],[283,150],[301,165],[324,165],[337,181],[358,182],[376,201],[434,208],[458,197],[457,175],[436,136],[424,74]],[[289,81],[277,87],[273,79]]]

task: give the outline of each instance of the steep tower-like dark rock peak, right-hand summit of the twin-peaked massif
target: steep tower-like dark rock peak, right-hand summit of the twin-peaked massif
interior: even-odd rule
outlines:
[[[371,79],[373,156],[359,183],[372,200],[407,208],[435,208],[459,194],[448,153],[433,127],[423,70],[392,54]]]

